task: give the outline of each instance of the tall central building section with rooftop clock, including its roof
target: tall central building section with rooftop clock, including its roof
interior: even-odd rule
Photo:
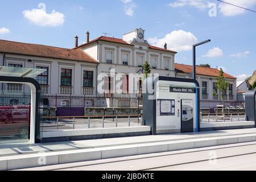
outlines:
[[[142,65],[148,61],[151,73],[158,73],[159,76],[175,77],[174,60],[177,52],[171,51],[166,47],[159,48],[150,46],[144,39],[142,28],[128,32],[123,35],[123,39],[100,38],[89,41],[75,49],[81,49],[94,59],[98,60],[97,75],[104,73],[105,96],[120,96],[129,94],[135,96],[140,92],[141,82],[135,83],[129,80],[129,73],[141,73]],[[116,82],[112,77],[111,71],[115,75],[122,73],[126,77],[126,82],[122,82],[122,93],[113,93],[112,85]],[[122,79],[125,80],[125,79]],[[98,80],[98,84],[101,80]],[[99,88],[98,88],[99,90]]]

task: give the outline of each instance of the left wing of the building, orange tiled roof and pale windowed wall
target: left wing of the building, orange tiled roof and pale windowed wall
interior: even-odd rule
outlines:
[[[45,96],[96,94],[98,63],[85,52],[6,40],[1,40],[0,45],[0,66],[46,70],[35,78]],[[22,84],[1,84],[0,87],[9,94],[30,92],[30,88]]]

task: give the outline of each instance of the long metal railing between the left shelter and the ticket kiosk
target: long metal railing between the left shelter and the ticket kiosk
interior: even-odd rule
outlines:
[[[43,131],[143,126],[142,115],[84,115],[79,117],[43,117]],[[56,119],[52,121],[50,119]],[[50,121],[49,121],[50,120]]]

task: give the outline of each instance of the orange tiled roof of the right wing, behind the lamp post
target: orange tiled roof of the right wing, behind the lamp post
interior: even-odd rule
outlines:
[[[180,72],[183,73],[192,73],[193,72],[193,66],[192,65],[186,65],[186,64],[175,64],[175,69],[177,69]],[[196,74],[197,75],[206,75],[206,76],[213,76],[218,77],[220,74],[220,71],[216,68],[205,68],[205,67],[196,67]],[[229,75],[228,73],[224,73],[223,75],[225,78],[232,78],[236,79],[236,77],[233,77]]]

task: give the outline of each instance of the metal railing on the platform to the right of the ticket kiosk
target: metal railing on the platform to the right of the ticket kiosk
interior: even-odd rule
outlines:
[[[246,121],[245,113],[200,113],[200,122]]]

